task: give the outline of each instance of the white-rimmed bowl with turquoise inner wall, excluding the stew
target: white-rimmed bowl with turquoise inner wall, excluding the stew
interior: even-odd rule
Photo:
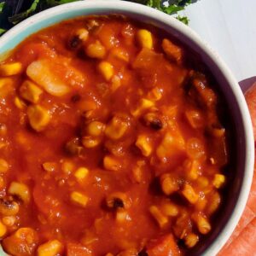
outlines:
[[[0,38],[2,59],[22,40],[44,27],[81,15],[108,14],[128,15],[133,19],[152,24],[172,34],[173,38],[176,38],[197,55],[200,55],[201,60],[207,65],[219,84],[218,90],[224,96],[229,108],[228,113],[233,123],[232,130],[236,137],[236,152],[234,154],[235,157],[232,159],[234,163],[236,161],[236,165],[234,165],[235,177],[226,191],[227,200],[218,216],[218,224],[215,221],[216,226],[211,234],[203,241],[201,247],[191,253],[193,255],[216,255],[236,228],[236,224],[246,206],[253,179],[253,126],[244,96],[236,79],[230,73],[230,69],[218,54],[199,38],[189,26],[183,25],[183,23],[170,15],[137,3],[113,0],[88,0],[67,3],[45,10],[38,15],[33,15],[9,30],[9,32],[6,32]]]

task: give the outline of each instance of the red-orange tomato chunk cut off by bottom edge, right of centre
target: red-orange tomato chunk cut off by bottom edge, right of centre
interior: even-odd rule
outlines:
[[[152,241],[147,247],[148,256],[178,256],[180,251],[172,234]]]

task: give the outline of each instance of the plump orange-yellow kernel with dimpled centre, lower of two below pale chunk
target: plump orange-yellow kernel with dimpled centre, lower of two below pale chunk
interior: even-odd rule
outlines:
[[[38,105],[31,105],[27,108],[29,124],[35,131],[43,131],[49,124],[49,111]]]

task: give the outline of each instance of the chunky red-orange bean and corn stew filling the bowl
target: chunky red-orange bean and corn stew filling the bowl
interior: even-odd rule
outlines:
[[[27,38],[0,63],[4,251],[175,256],[200,244],[230,180],[214,84],[166,32],[125,17]]]

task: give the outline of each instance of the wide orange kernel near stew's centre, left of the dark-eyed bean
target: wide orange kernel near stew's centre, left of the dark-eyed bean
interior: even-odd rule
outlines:
[[[113,119],[108,123],[105,134],[107,137],[118,140],[119,138],[125,135],[125,131],[128,129],[128,122],[119,118],[118,116],[114,116]]]

